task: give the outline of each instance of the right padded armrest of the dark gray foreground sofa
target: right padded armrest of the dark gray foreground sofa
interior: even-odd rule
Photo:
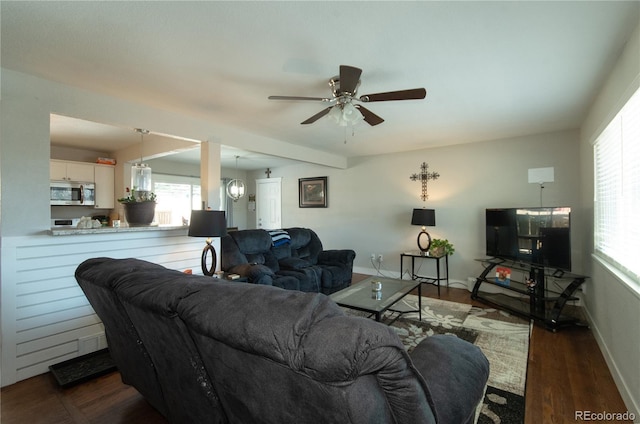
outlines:
[[[477,346],[450,335],[424,339],[410,354],[424,377],[438,423],[475,422],[489,378],[489,361]]]

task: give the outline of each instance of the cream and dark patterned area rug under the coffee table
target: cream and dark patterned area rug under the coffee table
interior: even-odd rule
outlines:
[[[418,297],[408,295],[394,309],[417,311]],[[390,323],[396,318],[397,314],[387,313],[382,321]],[[417,312],[409,312],[391,326],[409,352],[434,334],[451,334],[478,346],[491,366],[478,423],[524,422],[529,321],[493,308],[423,297],[422,321]]]

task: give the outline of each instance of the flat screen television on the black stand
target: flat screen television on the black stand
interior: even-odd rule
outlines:
[[[486,210],[486,254],[571,271],[571,208]]]

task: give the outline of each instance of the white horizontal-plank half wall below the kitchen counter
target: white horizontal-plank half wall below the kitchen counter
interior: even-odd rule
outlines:
[[[188,228],[49,228],[40,234],[3,237],[1,386],[105,347],[104,327],[75,279],[83,261],[138,258],[201,275],[205,241],[189,237]],[[220,238],[213,244],[220,252]]]

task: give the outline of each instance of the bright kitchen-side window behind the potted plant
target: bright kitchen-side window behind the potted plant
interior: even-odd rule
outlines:
[[[153,191],[160,225],[184,225],[192,209],[202,209],[199,178],[153,174]]]

